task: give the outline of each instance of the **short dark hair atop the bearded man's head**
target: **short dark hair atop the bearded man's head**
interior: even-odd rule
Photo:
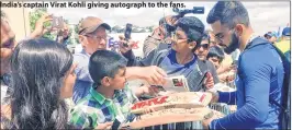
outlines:
[[[206,17],[209,24],[213,24],[216,21],[227,25],[229,28],[235,27],[236,24],[249,26],[248,12],[239,1],[218,1]]]

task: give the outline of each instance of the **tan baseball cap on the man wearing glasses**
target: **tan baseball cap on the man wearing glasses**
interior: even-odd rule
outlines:
[[[111,26],[106,23],[103,23],[102,20],[94,16],[88,16],[80,22],[78,34],[92,33],[100,26],[105,27],[105,29],[111,29]]]

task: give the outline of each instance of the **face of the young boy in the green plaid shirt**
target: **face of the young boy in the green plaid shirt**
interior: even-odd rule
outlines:
[[[117,73],[114,75],[114,78],[111,78],[110,80],[110,86],[112,86],[113,90],[122,90],[125,86],[126,83],[126,68],[119,69]]]

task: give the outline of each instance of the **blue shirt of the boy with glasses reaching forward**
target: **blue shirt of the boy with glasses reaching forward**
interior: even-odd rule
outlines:
[[[196,56],[193,55],[193,59],[190,62],[180,64],[177,62],[176,51],[166,44],[158,45],[157,49],[150,51],[147,57],[142,60],[137,60],[132,50],[124,54],[124,57],[128,59],[127,67],[157,66],[164,69],[170,76],[184,75],[191,92],[204,90],[202,81],[205,72],[211,72],[214,83],[218,82],[217,73],[212,62],[207,60],[198,60]]]

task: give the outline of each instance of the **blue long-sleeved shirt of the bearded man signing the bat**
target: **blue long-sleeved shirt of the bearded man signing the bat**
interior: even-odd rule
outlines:
[[[237,91],[220,93],[218,102],[237,104],[237,111],[213,120],[211,129],[280,129],[281,108],[269,98],[281,104],[284,69],[276,49],[260,42],[267,40],[255,38],[239,56]]]

